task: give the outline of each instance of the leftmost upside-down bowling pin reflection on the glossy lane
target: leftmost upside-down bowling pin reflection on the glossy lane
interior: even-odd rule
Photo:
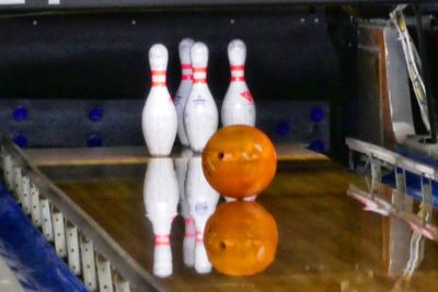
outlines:
[[[155,238],[153,273],[172,275],[170,232],[176,215],[178,189],[171,159],[151,159],[145,176],[143,200],[146,215],[152,223]]]

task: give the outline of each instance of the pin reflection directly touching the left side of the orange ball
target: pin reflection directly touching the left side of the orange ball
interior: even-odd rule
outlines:
[[[191,157],[188,161],[185,189],[196,226],[195,270],[207,273],[211,271],[211,264],[204,246],[204,229],[208,218],[215,212],[219,194],[210,187],[205,178],[200,156]]]

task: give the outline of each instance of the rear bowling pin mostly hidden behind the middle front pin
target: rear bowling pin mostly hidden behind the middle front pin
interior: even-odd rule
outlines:
[[[187,135],[185,133],[184,127],[184,107],[187,103],[188,94],[192,91],[193,74],[192,74],[192,61],[191,61],[191,48],[195,44],[192,38],[184,38],[181,40],[178,46],[180,61],[181,61],[181,83],[175,94],[175,107],[177,114],[177,136],[180,142],[188,147]]]

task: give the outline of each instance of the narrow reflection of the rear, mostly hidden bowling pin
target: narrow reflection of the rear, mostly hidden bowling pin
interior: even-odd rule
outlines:
[[[191,210],[188,208],[187,198],[185,196],[185,179],[187,175],[188,157],[192,157],[193,152],[189,148],[184,148],[181,152],[181,157],[175,160],[175,171],[178,180],[180,189],[180,207],[181,214],[185,222],[185,234],[183,242],[183,257],[184,264],[187,267],[193,267],[195,264],[195,223],[191,217]]]

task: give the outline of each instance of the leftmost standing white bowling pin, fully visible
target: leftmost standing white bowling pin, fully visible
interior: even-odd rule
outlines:
[[[176,138],[176,109],[165,84],[168,58],[168,49],[161,44],[149,50],[152,84],[143,106],[141,126],[152,156],[169,155]]]

